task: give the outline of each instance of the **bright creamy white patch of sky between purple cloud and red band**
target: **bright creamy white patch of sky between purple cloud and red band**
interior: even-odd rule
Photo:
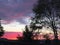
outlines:
[[[13,21],[10,24],[2,24],[6,32],[22,32],[25,28],[24,24]]]

